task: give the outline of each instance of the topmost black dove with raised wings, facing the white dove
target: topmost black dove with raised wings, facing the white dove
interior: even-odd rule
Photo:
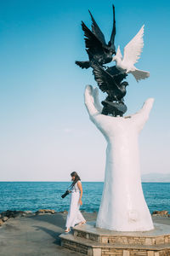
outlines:
[[[85,36],[86,50],[88,52],[89,61],[75,61],[75,63],[82,68],[91,67],[91,62],[98,62],[101,66],[112,61],[112,56],[116,54],[116,47],[114,44],[116,35],[116,20],[115,7],[113,5],[113,28],[111,32],[111,39],[108,44],[105,42],[105,36],[101,32],[99,26],[94,20],[93,15],[89,11],[92,19],[92,31],[82,21],[82,31]]]

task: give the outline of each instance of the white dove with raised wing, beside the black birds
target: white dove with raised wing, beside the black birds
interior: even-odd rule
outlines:
[[[116,68],[122,72],[132,73],[134,78],[139,82],[140,79],[149,78],[150,73],[147,71],[139,70],[134,66],[138,62],[142,49],[144,47],[144,25],[140,28],[136,36],[125,46],[124,56],[120,46],[118,46],[116,55],[112,61],[116,61]]]

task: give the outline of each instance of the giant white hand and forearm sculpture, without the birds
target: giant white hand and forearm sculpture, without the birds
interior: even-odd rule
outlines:
[[[139,131],[149,118],[154,99],[129,118],[101,114],[98,89],[87,85],[89,117],[107,141],[105,183],[96,227],[116,231],[146,231],[154,226],[144,200],[139,165]]]

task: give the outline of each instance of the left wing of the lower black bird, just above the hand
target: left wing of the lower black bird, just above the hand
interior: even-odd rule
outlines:
[[[92,63],[91,67],[93,67],[94,79],[99,85],[99,89],[103,92],[107,90],[113,90],[114,86],[117,88],[114,79],[112,78],[110,73],[107,73],[99,64]]]

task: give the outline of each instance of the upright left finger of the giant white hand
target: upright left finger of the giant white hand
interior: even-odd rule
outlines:
[[[84,103],[86,108],[88,109],[88,113],[90,116],[93,116],[99,113],[99,110],[96,108],[94,104],[94,88],[92,85],[87,85],[84,92]]]

